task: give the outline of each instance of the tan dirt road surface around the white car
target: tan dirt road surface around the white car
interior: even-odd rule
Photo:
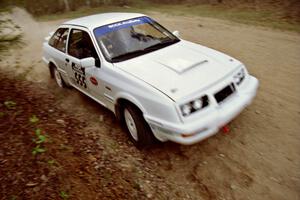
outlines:
[[[85,129],[109,141],[106,148],[123,157],[123,167],[143,163],[172,186],[163,196],[149,191],[149,198],[300,199],[300,35],[210,18],[149,15],[184,39],[241,60],[260,80],[256,99],[230,123],[229,134],[192,146],[164,143],[136,150],[112,113],[74,89],[57,89],[50,80],[41,46],[65,20],[36,22],[14,9],[11,16],[24,32],[25,45],[7,52],[0,66],[54,90],[63,108],[88,122]],[[160,183],[148,185],[155,184]]]

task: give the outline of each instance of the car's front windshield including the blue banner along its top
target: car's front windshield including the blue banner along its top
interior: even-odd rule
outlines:
[[[179,41],[149,17],[101,26],[94,29],[94,34],[109,62],[124,61]]]

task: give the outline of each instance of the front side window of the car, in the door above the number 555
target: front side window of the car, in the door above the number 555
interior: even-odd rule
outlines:
[[[94,44],[85,31],[72,29],[69,39],[68,53],[78,59],[93,57],[99,60]]]

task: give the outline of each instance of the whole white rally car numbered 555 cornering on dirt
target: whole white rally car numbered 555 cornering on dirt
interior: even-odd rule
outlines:
[[[204,140],[248,106],[259,85],[238,60],[180,39],[143,14],[65,22],[43,50],[57,84],[113,111],[137,146]]]

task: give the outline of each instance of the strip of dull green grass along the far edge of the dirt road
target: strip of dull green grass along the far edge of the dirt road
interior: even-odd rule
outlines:
[[[43,15],[37,17],[37,19],[40,21],[49,21],[57,19],[76,18],[104,12],[142,12],[147,14],[153,11],[167,13],[170,15],[211,17],[242,24],[300,32],[299,23],[284,20],[280,17],[278,11],[255,11],[253,9],[246,8],[229,8],[224,6],[212,5],[166,5],[138,2],[136,4],[132,4],[129,8],[118,6],[81,8],[76,11],[58,13],[54,15]]]

